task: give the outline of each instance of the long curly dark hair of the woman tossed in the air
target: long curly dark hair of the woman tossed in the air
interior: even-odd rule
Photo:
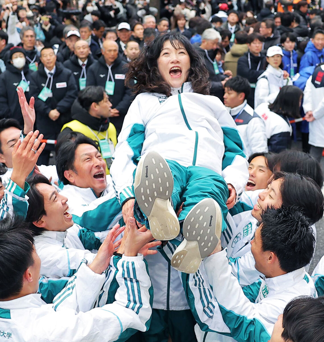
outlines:
[[[125,79],[126,85],[132,88],[135,94],[149,92],[162,93],[166,96],[171,95],[170,84],[162,79],[158,69],[158,58],[163,44],[168,40],[170,40],[174,48],[177,48],[180,44],[188,52],[190,69],[187,82],[191,82],[193,91],[208,95],[210,91],[209,74],[202,57],[185,36],[171,32],[156,37],[149,46],[144,47],[139,57],[129,64]],[[136,80],[135,84],[134,80]]]

